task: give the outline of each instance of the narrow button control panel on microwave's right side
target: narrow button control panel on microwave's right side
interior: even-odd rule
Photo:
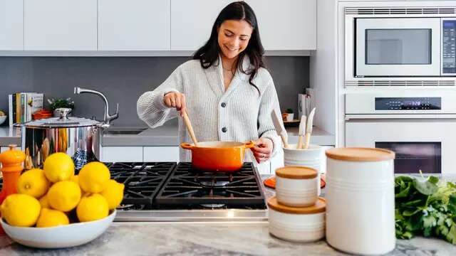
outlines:
[[[442,26],[442,73],[456,74],[456,20],[443,20]]]

